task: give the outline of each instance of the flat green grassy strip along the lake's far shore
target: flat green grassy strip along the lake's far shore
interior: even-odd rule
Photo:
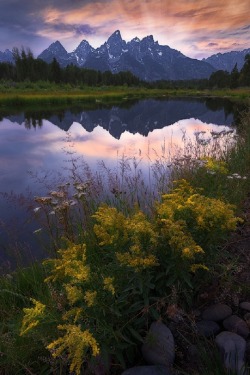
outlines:
[[[0,84],[0,106],[23,106],[38,104],[117,103],[131,99],[164,98],[174,96],[228,97],[249,100],[250,89],[195,90],[195,89],[147,89],[144,87],[73,87],[46,82]]]

